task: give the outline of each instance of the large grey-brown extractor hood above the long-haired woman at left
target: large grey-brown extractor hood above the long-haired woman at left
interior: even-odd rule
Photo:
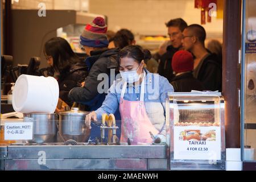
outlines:
[[[105,15],[78,12],[75,10],[47,10],[46,16],[38,16],[38,10],[12,10],[12,47],[14,65],[28,64],[31,57],[40,57],[40,67],[47,67],[43,46],[57,36],[57,29],[70,24],[85,26],[97,16]]]

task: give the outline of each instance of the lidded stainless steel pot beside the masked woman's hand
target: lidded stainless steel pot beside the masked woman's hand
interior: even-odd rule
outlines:
[[[59,134],[63,142],[69,139],[86,142],[90,135],[90,129],[85,126],[87,114],[89,114],[88,111],[80,111],[77,107],[59,113]]]

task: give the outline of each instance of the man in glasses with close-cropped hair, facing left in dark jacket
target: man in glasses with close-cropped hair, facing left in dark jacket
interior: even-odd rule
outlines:
[[[199,24],[191,24],[183,31],[183,48],[195,56],[194,77],[203,82],[206,90],[221,92],[221,64],[217,55],[205,48],[205,38],[204,27]]]

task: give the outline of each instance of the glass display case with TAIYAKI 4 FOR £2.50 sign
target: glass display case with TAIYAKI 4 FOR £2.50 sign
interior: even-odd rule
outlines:
[[[219,92],[168,93],[170,168],[225,169],[224,98]]]

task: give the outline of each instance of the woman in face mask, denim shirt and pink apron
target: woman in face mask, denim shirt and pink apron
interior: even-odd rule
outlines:
[[[148,50],[127,46],[119,51],[118,58],[122,78],[114,81],[102,106],[86,115],[86,126],[90,127],[91,121],[101,121],[104,113],[115,113],[119,106],[121,142],[128,139],[131,144],[156,142],[150,132],[166,142],[166,93],[174,92],[174,88],[166,78],[143,68],[144,61],[151,58]]]

